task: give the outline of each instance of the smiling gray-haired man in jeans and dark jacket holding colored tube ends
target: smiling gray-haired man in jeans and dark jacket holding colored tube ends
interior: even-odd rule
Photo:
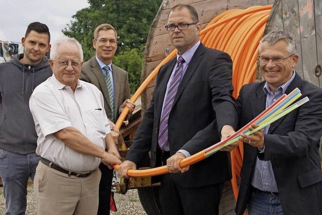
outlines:
[[[284,31],[260,42],[259,64],[264,82],[245,85],[237,99],[239,125],[244,126],[284,93],[295,88],[310,101],[250,136],[242,135],[244,161],[236,205],[243,214],[322,214],[322,90],[303,81],[294,70],[295,41]],[[257,127],[252,125],[250,129]]]

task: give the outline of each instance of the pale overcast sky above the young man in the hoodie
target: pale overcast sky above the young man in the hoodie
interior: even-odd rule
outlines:
[[[21,42],[27,26],[37,21],[48,26],[52,44],[71,16],[88,6],[87,0],[0,0],[0,40]]]

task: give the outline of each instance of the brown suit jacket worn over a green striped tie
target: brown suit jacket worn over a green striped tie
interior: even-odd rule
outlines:
[[[127,72],[112,64],[112,74],[114,83],[114,119],[119,117],[119,108],[122,103],[130,98],[130,88]],[[111,103],[104,75],[96,57],[92,57],[82,66],[82,73],[79,79],[95,85],[103,94],[104,109],[107,117],[111,119]]]

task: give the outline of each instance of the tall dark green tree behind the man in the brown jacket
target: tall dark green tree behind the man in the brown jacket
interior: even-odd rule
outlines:
[[[109,23],[118,33],[116,54],[135,48],[141,55],[161,3],[162,0],[89,0],[90,6],[77,11],[62,32],[82,44],[84,60],[88,60],[95,54],[92,45],[95,28]]]

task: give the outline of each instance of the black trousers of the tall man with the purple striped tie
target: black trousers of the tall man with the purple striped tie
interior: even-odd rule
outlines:
[[[169,154],[164,153],[166,164]],[[209,179],[211,180],[211,179]],[[203,187],[187,188],[180,185],[175,174],[168,173],[161,178],[159,199],[165,215],[219,214],[219,202],[224,183]]]

